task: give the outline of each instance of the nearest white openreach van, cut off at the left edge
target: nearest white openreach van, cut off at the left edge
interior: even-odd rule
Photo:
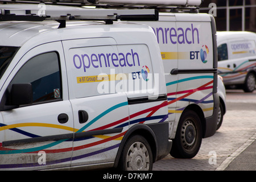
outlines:
[[[0,6],[2,20],[60,22],[0,23],[0,169],[152,169],[171,148],[159,46],[112,19],[155,10],[58,8]]]

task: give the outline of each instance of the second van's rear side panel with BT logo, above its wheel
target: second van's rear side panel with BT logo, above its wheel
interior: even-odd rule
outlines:
[[[176,15],[177,44],[179,50],[179,84],[177,108],[182,113],[185,107],[197,104],[205,117],[213,114],[213,39],[209,16]],[[205,34],[207,32],[207,34]]]

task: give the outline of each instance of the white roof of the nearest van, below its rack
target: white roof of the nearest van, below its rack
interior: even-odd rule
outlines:
[[[142,27],[148,28],[148,26],[135,24],[131,27],[129,24],[133,23],[114,22],[114,24],[108,25],[100,21],[71,21],[67,22],[66,28],[58,28],[59,23],[52,20],[44,22],[0,22],[0,46],[20,47],[31,39],[31,41],[36,42],[36,44],[40,44],[65,39],[86,38],[85,35],[82,35],[85,34],[85,32],[86,34],[96,35],[97,32],[108,31],[110,29],[109,26],[118,28],[118,30],[116,29],[115,31],[124,32],[134,30],[144,31]],[[104,27],[108,27],[108,29],[104,30]],[[76,33],[72,34],[74,31],[76,31]],[[100,34],[98,36],[100,36]]]

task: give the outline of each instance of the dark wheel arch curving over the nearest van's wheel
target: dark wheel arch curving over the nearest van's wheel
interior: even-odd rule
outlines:
[[[158,150],[157,150],[158,142],[154,134],[154,131],[149,126],[139,123],[137,125],[132,126],[129,130],[127,130],[126,134],[123,136],[123,139],[117,151],[117,156],[115,157],[115,162],[114,162],[115,168],[118,166],[119,159],[127,139],[137,134],[142,135],[144,138],[146,138],[147,142],[150,144],[150,147],[151,147],[151,151],[153,155],[153,163],[156,161],[156,158],[158,156]]]

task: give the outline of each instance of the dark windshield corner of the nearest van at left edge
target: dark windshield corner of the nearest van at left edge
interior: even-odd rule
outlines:
[[[3,73],[5,73],[8,65],[11,63],[17,50],[18,47],[0,46],[0,79],[3,76]]]

